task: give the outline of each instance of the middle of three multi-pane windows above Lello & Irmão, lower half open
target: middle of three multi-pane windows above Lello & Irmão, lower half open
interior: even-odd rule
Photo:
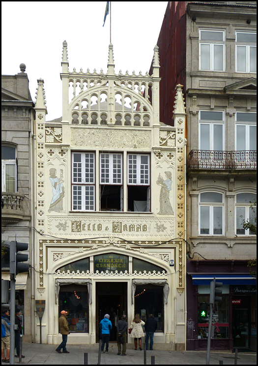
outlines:
[[[100,210],[123,210],[122,154],[100,154]]]

